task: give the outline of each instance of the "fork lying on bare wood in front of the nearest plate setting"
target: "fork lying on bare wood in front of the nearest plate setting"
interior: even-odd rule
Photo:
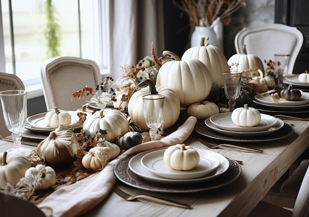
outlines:
[[[118,187],[115,187],[114,191],[115,191],[116,194],[118,194],[120,197],[122,197],[123,199],[125,199],[127,201],[132,201],[132,200],[141,198],[141,199],[149,200],[149,201],[152,201],[152,202],[155,202],[155,203],[164,204],[164,205],[170,205],[170,206],[175,206],[175,207],[191,209],[191,206],[189,206],[189,205],[185,205],[185,204],[181,204],[181,203],[176,203],[176,202],[172,202],[172,201],[168,201],[168,200],[163,200],[163,199],[152,197],[152,196],[148,196],[148,195],[143,195],[143,194],[140,194],[140,195],[130,195],[130,194],[127,194],[127,193],[123,192]]]

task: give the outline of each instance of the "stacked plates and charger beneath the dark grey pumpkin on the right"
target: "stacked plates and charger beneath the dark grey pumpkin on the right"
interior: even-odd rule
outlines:
[[[303,92],[302,96],[295,101],[284,100],[280,102],[275,102],[271,93],[261,93],[254,96],[254,100],[258,105],[267,107],[271,110],[280,110],[280,111],[300,111],[307,110],[309,108],[309,93]]]

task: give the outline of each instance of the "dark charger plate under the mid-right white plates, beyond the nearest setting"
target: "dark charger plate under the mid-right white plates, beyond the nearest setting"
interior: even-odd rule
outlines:
[[[232,142],[266,142],[266,141],[274,141],[286,138],[290,136],[294,132],[293,126],[290,124],[284,123],[283,127],[276,132],[273,132],[268,135],[263,136],[248,136],[245,138],[237,138],[228,135],[223,135],[214,130],[210,129],[206,126],[204,120],[197,121],[194,127],[194,131],[202,136],[206,136],[213,139],[219,139],[224,141],[232,141]],[[235,135],[237,136],[237,135]]]

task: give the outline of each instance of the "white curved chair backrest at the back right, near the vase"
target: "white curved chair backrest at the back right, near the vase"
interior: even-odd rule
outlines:
[[[290,54],[288,74],[293,73],[305,45],[301,31],[283,24],[243,28],[236,34],[234,43],[237,54],[241,54],[243,45],[246,45],[247,53],[258,56],[262,62],[273,61],[274,54]]]

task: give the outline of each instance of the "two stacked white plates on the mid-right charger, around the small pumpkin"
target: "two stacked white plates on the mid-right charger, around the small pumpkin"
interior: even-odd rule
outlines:
[[[237,126],[232,122],[232,112],[215,114],[207,118],[205,124],[218,133],[234,137],[268,135],[284,126],[283,121],[266,114],[261,114],[261,121],[256,126]]]

